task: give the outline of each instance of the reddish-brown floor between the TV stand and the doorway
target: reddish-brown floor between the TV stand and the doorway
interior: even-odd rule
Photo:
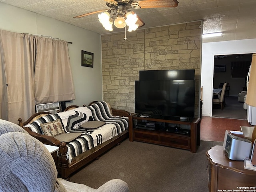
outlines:
[[[247,120],[203,116],[201,120],[200,137],[201,140],[224,141],[225,130],[240,131],[240,126],[251,125]]]

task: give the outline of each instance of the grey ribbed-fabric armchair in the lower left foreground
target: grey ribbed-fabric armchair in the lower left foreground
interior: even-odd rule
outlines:
[[[0,119],[0,191],[128,192],[126,182],[112,179],[98,189],[57,178],[47,148],[20,126]]]

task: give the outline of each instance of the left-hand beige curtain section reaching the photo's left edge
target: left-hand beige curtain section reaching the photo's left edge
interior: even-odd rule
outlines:
[[[0,30],[1,118],[18,123],[34,113],[34,37]]]

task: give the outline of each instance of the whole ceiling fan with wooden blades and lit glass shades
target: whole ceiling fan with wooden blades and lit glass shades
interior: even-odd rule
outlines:
[[[130,11],[130,8],[142,9],[142,8],[161,8],[161,7],[176,7],[178,6],[177,0],[105,0],[109,9],[94,11],[74,18],[81,18],[91,14],[98,14],[100,23],[106,30],[112,31],[112,24],[117,28],[124,28],[129,26],[128,31],[136,30],[138,27],[142,27],[145,23],[134,13]]]

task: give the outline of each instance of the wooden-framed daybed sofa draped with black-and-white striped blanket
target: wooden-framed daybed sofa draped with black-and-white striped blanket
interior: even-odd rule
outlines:
[[[128,138],[129,115],[104,101],[94,101],[84,107],[70,106],[57,114],[39,112],[25,122],[19,118],[18,125],[43,144],[59,147],[52,156],[60,177],[68,179],[70,174]],[[105,124],[94,127],[92,123]]]

